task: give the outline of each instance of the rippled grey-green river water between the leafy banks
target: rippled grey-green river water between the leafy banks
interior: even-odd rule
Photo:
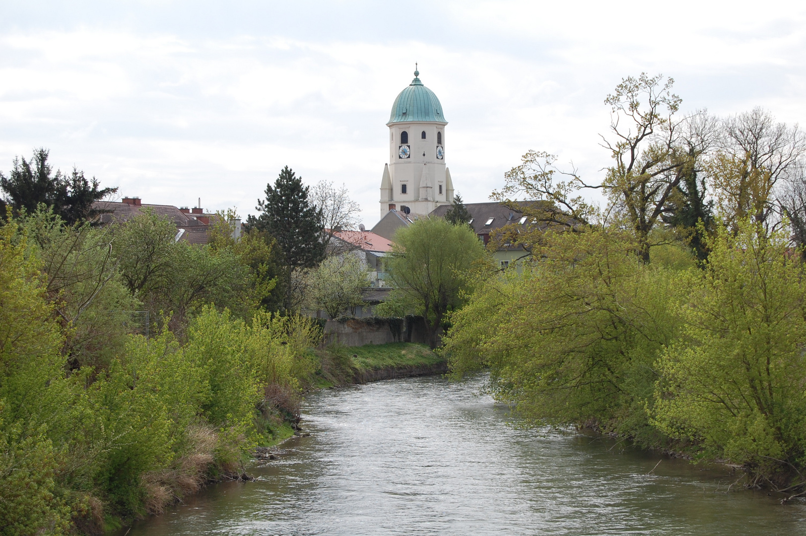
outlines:
[[[508,424],[482,378],[388,380],[307,398],[310,437],[139,522],[148,534],[786,534],[806,507],[726,492],[737,475]],[[646,473],[651,472],[649,476]]]

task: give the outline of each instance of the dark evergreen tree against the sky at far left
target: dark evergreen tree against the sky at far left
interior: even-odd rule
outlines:
[[[8,177],[0,172],[0,188],[6,192],[6,202],[17,212],[29,213],[44,204],[68,225],[102,214],[102,210],[93,209],[93,203],[118,189],[100,188],[98,179],[93,177],[90,181],[76,168],[69,176],[59,170],[54,174],[48,155],[48,149],[35,149],[30,161],[14,159]]]

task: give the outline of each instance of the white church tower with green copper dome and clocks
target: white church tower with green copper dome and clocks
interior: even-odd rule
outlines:
[[[419,71],[403,89],[389,116],[389,163],[380,180],[380,217],[389,210],[428,214],[453,201],[451,172],[445,166],[442,105],[422,85]]]

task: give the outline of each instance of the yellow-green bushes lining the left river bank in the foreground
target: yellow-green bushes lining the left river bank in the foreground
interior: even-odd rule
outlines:
[[[68,344],[89,326],[82,314],[106,322],[106,307],[136,301],[120,295],[114,267],[98,268],[99,231],[46,227],[0,227],[3,536],[98,532],[105,517],[160,511],[206,472],[235,467],[259,439],[271,385],[298,393],[318,369],[310,319],[259,313],[247,324],[213,305],[182,331],[184,343],[167,328],[146,339],[113,326],[120,340],[98,348],[102,359],[69,360],[68,351],[88,355]],[[65,285],[49,289],[43,265],[59,258],[73,272],[51,268]],[[87,292],[87,273],[107,285]]]

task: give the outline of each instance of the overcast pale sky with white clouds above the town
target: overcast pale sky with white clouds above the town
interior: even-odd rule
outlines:
[[[255,213],[284,165],[372,226],[413,77],[484,202],[529,149],[600,179],[605,95],[674,77],[683,110],[806,123],[806,2],[0,2],[0,170],[49,148],[120,196]]]

